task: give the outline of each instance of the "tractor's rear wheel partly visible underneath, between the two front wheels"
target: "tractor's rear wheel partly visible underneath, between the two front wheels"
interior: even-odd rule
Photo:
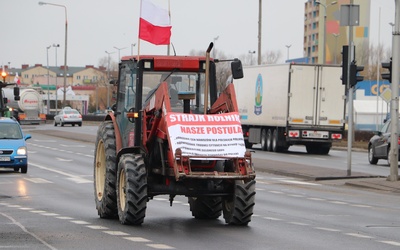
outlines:
[[[222,214],[221,197],[189,197],[190,211],[196,219],[217,219]]]

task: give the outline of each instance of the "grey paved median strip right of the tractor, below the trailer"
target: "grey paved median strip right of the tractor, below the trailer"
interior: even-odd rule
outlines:
[[[349,186],[400,193],[400,180],[388,181],[386,176],[369,175],[360,172],[352,172],[351,176],[347,176],[347,170],[337,170],[301,164],[293,165],[271,160],[264,161],[257,158],[253,158],[253,163],[256,173],[257,171],[260,171],[311,181],[340,179],[345,180],[345,184]]]

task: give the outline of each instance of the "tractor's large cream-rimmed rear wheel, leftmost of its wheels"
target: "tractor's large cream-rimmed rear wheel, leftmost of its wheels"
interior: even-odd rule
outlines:
[[[93,175],[97,213],[101,218],[116,218],[117,164],[115,132],[111,121],[101,123],[97,130]]]

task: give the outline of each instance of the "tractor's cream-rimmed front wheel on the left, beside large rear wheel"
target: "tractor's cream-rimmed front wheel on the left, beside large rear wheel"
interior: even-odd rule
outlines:
[[[117,203],[122,224],[140,225],[146,216],[146,166],[140,155],[125,154],[118,163]]]

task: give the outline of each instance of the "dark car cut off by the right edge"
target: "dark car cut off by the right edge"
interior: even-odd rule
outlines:
[[[399,121],[400,124],[400,121]],[[391,120],[387,120],[380,131],[369,140],[368,143],[368,161],[371,164],[377,164],[379,159],[386,159],[390,165],[390,134],[391,134]],[[400,130],[398,129],[398,133]],[[397,140],[400,144],[400,138]],[[400,148],[400,147],[399,147]],[[400,156],[400,154],[398,154]]]

